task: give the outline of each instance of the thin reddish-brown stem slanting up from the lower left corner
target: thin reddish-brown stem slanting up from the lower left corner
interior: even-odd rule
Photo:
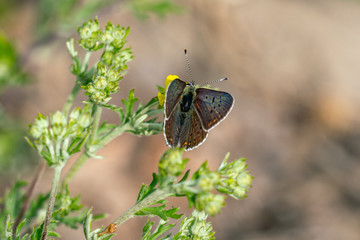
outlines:
[[[45,165],[46,165],[45,161],[40,162],[40,165],[39,165],[39,167],[38,167],[38,169],[37,169],[37,171],[35,173],[35,176],[34,176],[33,180],[31,181],[29,189],[28,189],[28,191],[26,193],[25,201],[24,201],[24,203],[23,203],[23,205],[21,207],[20,213],[17,216],[17,218],[16,218],[16,220],[14,222],[14,225],[12,226],[12,228],[13,228],[13,239],[16,239],[16,229],[17,229],[19,223],[21,222],[21,219],[24,217],[26,210],[29,207],[31,196],[32,196],[32,194],[34,192],[34,189],[35,189],[37,183],[39,182],[39,179],[40,179],[42,173],[44,172]]]

